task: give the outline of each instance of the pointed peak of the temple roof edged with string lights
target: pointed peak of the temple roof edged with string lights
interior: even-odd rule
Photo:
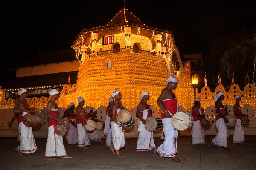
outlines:
[[[141,22],[139,18],[132,14],[128,9],[126,9],[125,6],[118,12],[118,14],[116,14],[115,17],[112,18],[112,20],[108,24],[106,24],[106,26],[112,26],[123,23],[134,23],[137,25],[145,26],[145,24]]]

